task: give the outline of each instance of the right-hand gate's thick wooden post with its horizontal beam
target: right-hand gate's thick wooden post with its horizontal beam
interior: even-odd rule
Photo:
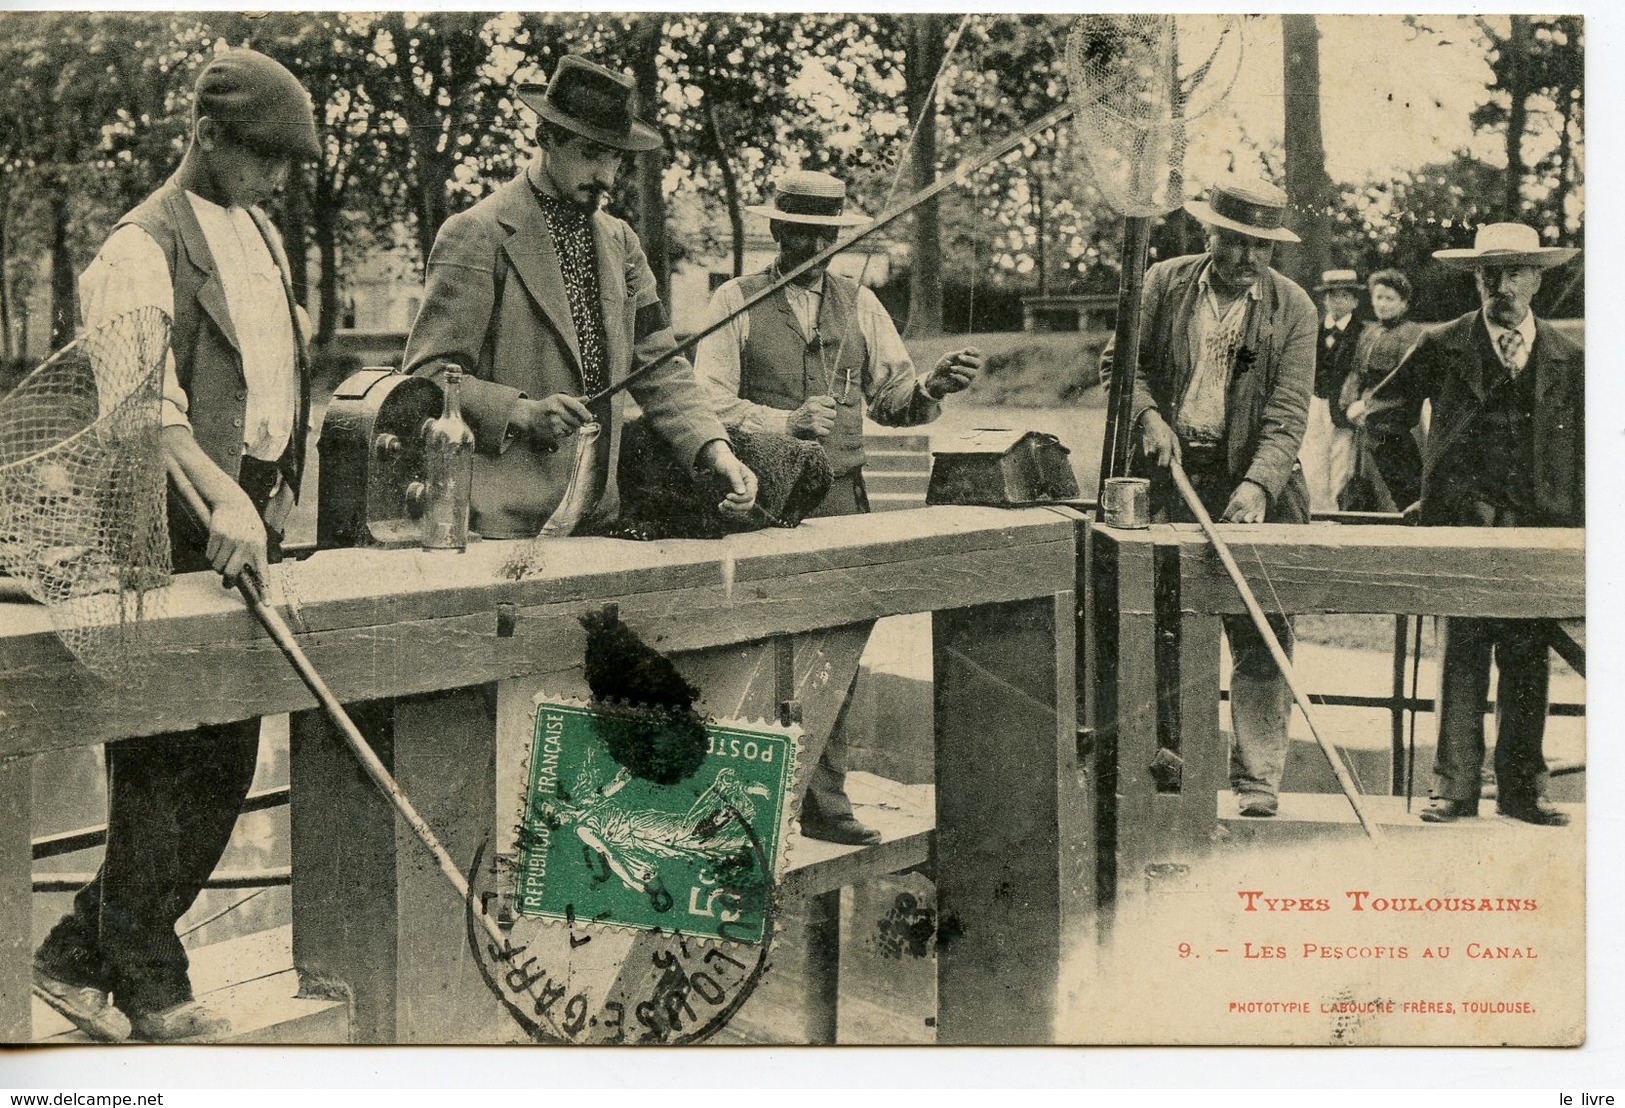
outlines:
[[[1216,796],[1228,785],[1220,619],[1245,608],[1196,525],[1087,533],[1086,734],[1100,778],[1097,903],[1108,910],[1147,866],[1199,855],[1214,838]],[[1225,533],[1269,612],[1586,614],[1581,531],[1315,523]],[[1178,754],[1176,785],[1154,777],[1159,749]]]

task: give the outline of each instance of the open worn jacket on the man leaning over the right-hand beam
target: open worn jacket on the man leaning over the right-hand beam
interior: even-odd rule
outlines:
[[[1173,426],[1194,369],[1190,320],[1206,265],[1207,255],[1196,253],[1159,262],[1146,271],[1134,426],[1149,408],[1157,408]],[[1251,481],[1269,494],[1272,518],[1306,522],[1308,486],[1297,461],[1315,387],[1320,325],[1308,292],[1280,273],[1269,270],[1261,291],[1259,301],[1248,305],[1230,374],[1225,431],[1230,473],[1237,483]]]

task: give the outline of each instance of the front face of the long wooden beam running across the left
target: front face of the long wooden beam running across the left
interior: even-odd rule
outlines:
[[[1068,535],[1034,548],[816,570],[731,593],[718,583],[520,606],[507,638],[497,637],[496,604],[505,596],[497,585],[488,611],[422,621],[395,619],[382,595],[372,611],[380,622],[299,638],[341,700],[372,700],[556,671],[561,658],[582,656],[585,632],[577,617],[604,601],[619,603],[622,619],[658,648],[702,650],[946,604],[1046,595],[1071,583],[1071,567]],[[306,604],[302,611],[309,624],[314,609]],[[154,647],[162,679],[119,695],[84,677],[54,637],[0,637],[0,757],[314,707],[280,651],[244,621],[240,611],[221,611],[208,637]],[[20,664],[6,669],[8,658]],[[177,682],[193,695],[172,697]]]

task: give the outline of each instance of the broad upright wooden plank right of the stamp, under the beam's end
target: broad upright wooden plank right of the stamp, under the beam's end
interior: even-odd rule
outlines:
[[[1076,788],[1071,590],[933,619],[938,1041],[1055,1037]]]

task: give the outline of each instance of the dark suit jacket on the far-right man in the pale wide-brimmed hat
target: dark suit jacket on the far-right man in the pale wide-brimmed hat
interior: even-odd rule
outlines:
[[[1422,463],[1422,523],[1461,525],[1482,476],[1462,463],[1462,442],[1479,426],[1490,387],[1506,370],[1482,312],[1430,328],[1389,387],[1407,401],[1433,401]],[[1536,320],[1523,372],[1534,374],[1534,500],[1540,526],[1586,523],[1584,349]]]

